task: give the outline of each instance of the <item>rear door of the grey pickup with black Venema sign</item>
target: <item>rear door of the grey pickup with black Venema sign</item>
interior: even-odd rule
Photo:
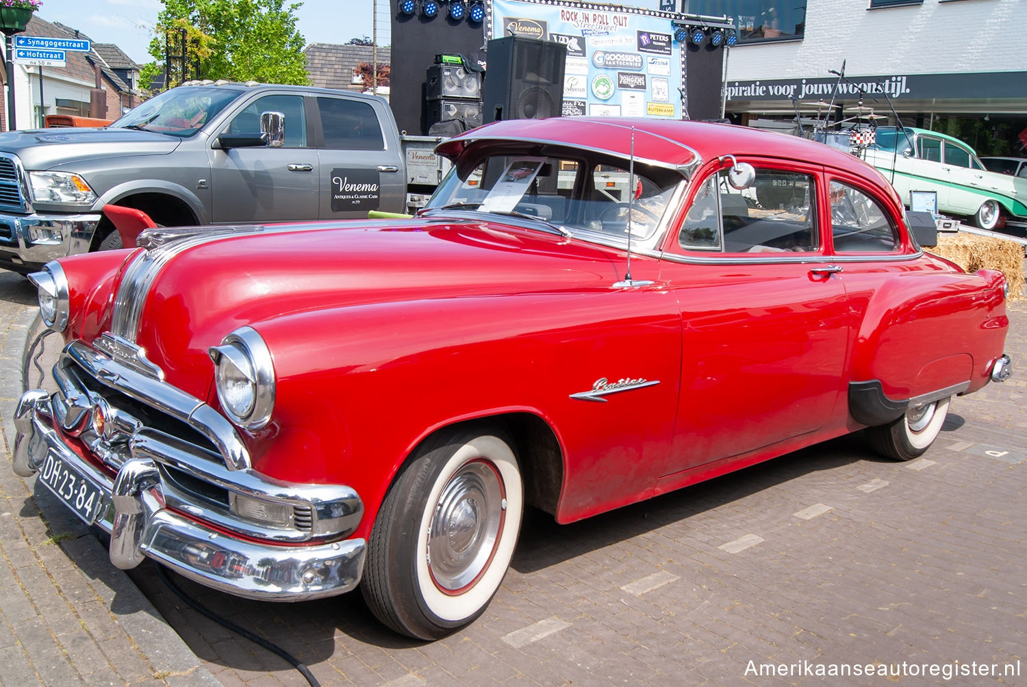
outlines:
[[[402,153],[386,136],[372,102],[318,96],[320,212],[322,220],[403,212],[406,204]],[[385,119],[386,122],[391,121]],[[388,145],[391,142],[392,145]]]

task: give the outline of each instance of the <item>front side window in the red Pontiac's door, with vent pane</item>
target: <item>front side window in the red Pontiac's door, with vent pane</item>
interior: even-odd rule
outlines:
[[[678,241],[688,251],[804,253],[820,247],[812,177],[757,169],[750,188],[727,183],[727,170],[707,179],[692,201]]]

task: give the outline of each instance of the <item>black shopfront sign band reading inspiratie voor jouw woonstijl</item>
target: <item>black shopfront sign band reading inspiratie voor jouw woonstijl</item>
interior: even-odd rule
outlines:
[[[891,100],[1023,98],[1027,72],[849,76],[840,83],[837,77],[759,79],[728,81],[725,87],[728,101],[852,99],[861,93],[885,93]]]

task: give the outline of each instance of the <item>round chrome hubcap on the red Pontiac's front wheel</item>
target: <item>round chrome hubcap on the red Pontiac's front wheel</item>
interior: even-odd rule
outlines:
[[[428,569],[435,584],[457,591],[488,567],[503,522],[499,473],[481,460],[450,478],[428,527]]]

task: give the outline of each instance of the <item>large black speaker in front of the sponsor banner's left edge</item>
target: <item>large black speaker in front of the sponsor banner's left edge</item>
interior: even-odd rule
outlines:
[[[489,41],[485,122],[543,119],[563,112],[567,46],[523,36]]]

